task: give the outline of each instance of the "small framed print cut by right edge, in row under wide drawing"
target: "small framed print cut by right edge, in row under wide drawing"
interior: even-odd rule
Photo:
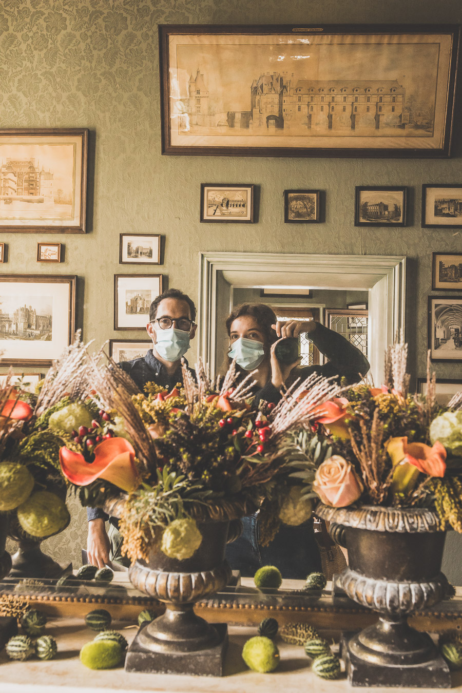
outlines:
[[[422,186],[422,224],[441,229],[462,229],[462,185]]]

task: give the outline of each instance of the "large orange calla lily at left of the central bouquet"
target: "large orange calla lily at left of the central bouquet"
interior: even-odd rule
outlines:
[[[132,444],[125,438],[108,438],[98,443],[94,453],[94,462],[85,462],[80,453],[60,448],[61,471],[66,479],[76,486],[88,486],[96,479],[104,479],[123,491],[136,489],[139,474]]]

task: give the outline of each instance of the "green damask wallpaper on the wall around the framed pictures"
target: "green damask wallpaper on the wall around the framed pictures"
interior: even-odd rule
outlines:
[[[411,367],[425,373],[427,295],[432,252],[461,252],[462,234],[420,229],[420,186],[461,182],[460,102],[449,160],[162,157],[158,24],[452,23],[459,0],[3,0],[0,3],[0,124],[91,130],[89,232],[0,234],[8,263],[0,272],[77,274],[78,322],[85,340],[143,337],[114,332],[114,274],[123,231],[165,236],[160,268],[168,286],[198,292],[199,250],[404,254],[409,257]],[[258,224],[199,224],[200,182],[260,185]],[[355,185],[407,185],[410,226],[355,228]],[[285,188],[326,191],[326,223],[283,225]],[[37,264],[37,241],[65,245],[60,265]],[[143,273],[145,267],[134,267]],[[194,361],[194,356],[192,360]],[[462,365],[436,364],[438,376],[462,378]],[[85,516],[46,544],[80,563]]]

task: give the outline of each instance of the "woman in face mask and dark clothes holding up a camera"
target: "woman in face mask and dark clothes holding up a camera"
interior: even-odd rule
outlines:
[[[226,319],[226,330],[229,359],[236,359],[243,376],[251,372],[255,380],[254,405],[260,400],[278,402],[281,388],[314,372],[357,383],[369,369],[362,352],[341,335],[314,321],[278,322],[274,311],[265,304],[237,306]],[[298,360],[289,365],[278,361],[276,344],[285,337],[299,337],[302,332],[310,333],[314,346],[329,359],[328,363],[298,368]],[[321,570],[312,520],[297,527],[281,525],[274,540],[265,547],[259,541],[258,513],[243,518],[243,524],[242,536],[226,548],[231,568],[240,570],[242,575],[254,575],[262,565],[276,565],[283,577],[291,579],[304,579],[308,573]]]

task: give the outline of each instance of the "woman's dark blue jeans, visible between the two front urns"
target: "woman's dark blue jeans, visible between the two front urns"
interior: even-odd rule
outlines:
[[[258,515],[242,518],[242,524],[242,535],[226,546],[226,560],[241,575],[254,577],[262,565],[276,565],[287,579],[304,580],[310,572],[321,571],[312,520],[298,527],[281,525],[268,546],[259,544]]]

